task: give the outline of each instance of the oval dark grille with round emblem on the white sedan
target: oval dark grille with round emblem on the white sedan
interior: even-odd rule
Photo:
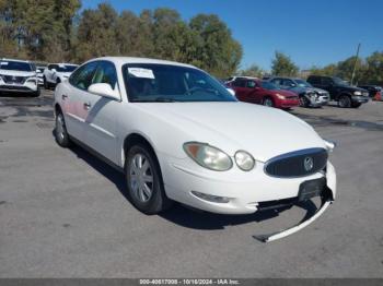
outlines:
[[[306,148],[286,153],[266,162],[265,172],[271,177],[297,178],[315,174],[326,167],[325,148]]]

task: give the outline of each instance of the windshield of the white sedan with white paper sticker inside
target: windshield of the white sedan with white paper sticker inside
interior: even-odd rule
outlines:
[[[135,103],[236,102],[221,83],[193,68],[130,63],[123,67],[123,74]]]

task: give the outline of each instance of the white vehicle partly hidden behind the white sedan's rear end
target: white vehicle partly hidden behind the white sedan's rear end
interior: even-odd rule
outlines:
[[[79,65],[72,63],[50,63],[44,70],[44,87],[48,90],[67,80]]]

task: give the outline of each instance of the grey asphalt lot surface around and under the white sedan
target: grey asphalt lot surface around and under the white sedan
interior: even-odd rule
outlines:
[[[53,92],[0,97],[0,277],[383,277],[383,103],[292,111],[339,143],[338,198],[313,225],[265,245],[253,236],[305,211],[177,205],[146,216],[119,174],[55,143],[51,102]]]

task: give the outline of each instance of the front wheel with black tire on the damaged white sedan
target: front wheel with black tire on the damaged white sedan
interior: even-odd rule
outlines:
[[[167,210],[167,199],[160,165],[154,153],[144,144],[134,145],[125,164],[128,199],[140,212],[153,215]]]

